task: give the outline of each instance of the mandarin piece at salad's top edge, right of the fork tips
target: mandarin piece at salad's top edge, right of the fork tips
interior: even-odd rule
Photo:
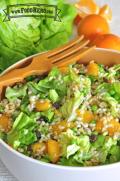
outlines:
[[[99,67],[96,63],[91,62],[87,66],[87,75],[92,75],[92,76],[98,76],[99,74]]]

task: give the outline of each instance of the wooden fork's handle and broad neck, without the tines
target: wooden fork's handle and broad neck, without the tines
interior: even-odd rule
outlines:
[[[46,59],[45,56],[39,55],[34,57],[32,62],[24,68],[18,68],[11,70],[5,75],[0,77],[0,87],[12,85],[17,82],[21,82],[25,77],[30,75],[41,75],[48,72],[52,67],[52,64]]]

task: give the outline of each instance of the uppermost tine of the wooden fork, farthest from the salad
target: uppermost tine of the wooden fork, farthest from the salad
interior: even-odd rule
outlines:
[[[48,58],[51,58],[57,54],[60,54],[61,52],[65,52],[66,50],[72,48],[74,45],[78,44],[80,41],[84,39],[84,35],[81,35],[80,37],[75,38],[74,40],[71,40],[68,44],[64,45],[62,48],[56,48],[55,50],[51,50],[48,52]]]

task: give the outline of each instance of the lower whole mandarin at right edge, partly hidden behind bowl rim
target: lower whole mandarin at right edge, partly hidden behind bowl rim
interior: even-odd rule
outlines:
[[[120,37],[113,34],[97,36],[92,44],[99,48],[108,48],[120,51]]]

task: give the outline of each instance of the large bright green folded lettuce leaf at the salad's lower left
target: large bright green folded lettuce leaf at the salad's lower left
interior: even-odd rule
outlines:
[[[7,135],[7,142],[15,149],[20,145],[29,145],[37,140],[34,132],[36,120],[21,112],[16,118],[12,130]]]

